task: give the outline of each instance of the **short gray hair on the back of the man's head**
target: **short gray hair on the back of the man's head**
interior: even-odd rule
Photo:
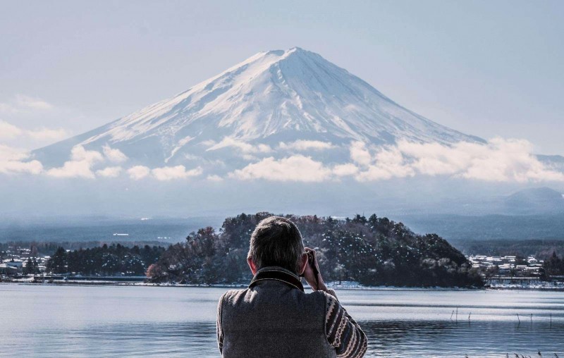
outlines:
[[[248,258],[261,269],[280,266],[298,274],[304,252],[302,234],[295,223],[281,216],[263,219],[252,232]]]

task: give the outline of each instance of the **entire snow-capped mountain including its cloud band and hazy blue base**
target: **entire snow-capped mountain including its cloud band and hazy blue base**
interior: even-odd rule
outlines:
[[[511,207],[500,196],[535,183],[564,192],[564,158],[533,150],[527,140],[486,141],[430,121],[295,47],[260,52],[9,163],[36,175],[4,175],[0,209],[14,216],[505,213]]]

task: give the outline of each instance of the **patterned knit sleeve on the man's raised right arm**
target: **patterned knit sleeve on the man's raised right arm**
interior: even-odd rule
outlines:
[[[358,323],[335,296],[326,295],[325,333],[339,358],[360,358],[367,350],[367,338]]]

